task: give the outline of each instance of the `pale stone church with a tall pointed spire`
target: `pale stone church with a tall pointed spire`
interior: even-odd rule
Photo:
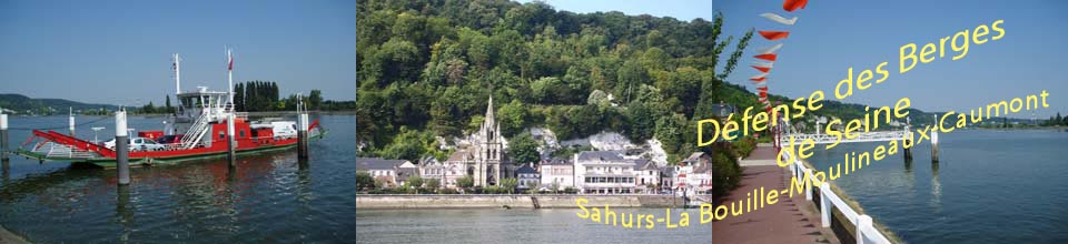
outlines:
[[[446,183],[454,186],[455,179],[471,175],[475,186],[497,185],[501,179],[514,177],[514,166],[508,161],[501,136],[501,125],[493,115],[493,96],[486,105],[485,121],[478,132],[471,136],[466,145],[458,145],[456,152],[445,161]],[[463,174],[463,175],[462,175]]]

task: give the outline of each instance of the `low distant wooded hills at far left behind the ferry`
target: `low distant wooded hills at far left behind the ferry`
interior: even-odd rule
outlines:
[[[100,110],[116,108],[110,104],[93,104],[70,101],[66,99],[32,99],[22,94],[0,94],[0,108],[4,113],[47,115],[67,113],[68,108],[75,111]]]

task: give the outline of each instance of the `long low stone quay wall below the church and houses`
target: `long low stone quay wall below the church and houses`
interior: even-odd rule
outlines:
[[[577,209],[577,199],[584,206],[612,207],[682,207],[682,197],[673,195],[586,195],[586,194],[501,194],[501,195],[416,195],[357,194],[356,209]]]

